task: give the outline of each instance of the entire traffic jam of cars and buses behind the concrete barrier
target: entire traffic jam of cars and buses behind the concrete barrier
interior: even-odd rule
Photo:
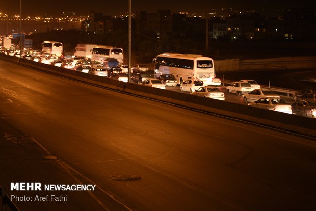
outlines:
[[[64,57],[62,43],[44,41],[42,46],[42,51],[24,49],[22,55],[17,48],[3,47],[1,52],[87,74],[128,81],[128,65],[123,63],[122,48],[77,44],[75,54]],[[154,58],[153,62],[154,71],[150,71],[146,65],[133,65],[130,82],[200,97],[245,103],[260,109],[316,117],[316,90],[303,89],[293,93],[293,98],[290,98],[260,86],[255,80],[241,79],[224,86],[216,78],[212,58],[202,55],[164,53]]]

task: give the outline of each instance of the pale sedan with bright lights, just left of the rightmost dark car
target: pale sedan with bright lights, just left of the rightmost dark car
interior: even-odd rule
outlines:
[[[272,111],[292,114],[291,105],[287,104],[283,99],[277,97],[264,97],[254,102],[250,102],[248,105],[252,107],[258,107],[260,109],[269,109]]]

